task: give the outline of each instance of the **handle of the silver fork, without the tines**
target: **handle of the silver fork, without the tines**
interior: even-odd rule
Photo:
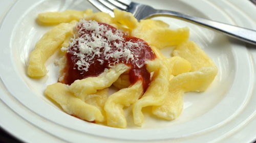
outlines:
[[[190,15],[186,15],[186,14],[182,14],[174,11],[168,11],[168,10],[157,10],[156,13],[152,14],[151,16],[154,16],[154,15],[168,15],[168,16],[173,16],[183,20],[187,20],[189,22],[198,23],[200,25],[211,28],[213,30],[216,30],[218,32],[231,36],[233,38],[256,45],[256,31],[254,30],[249,30],[247,28],[243,28],[239,26],[229,25],[222,22],[217,22],[209,19],[190,16]]]

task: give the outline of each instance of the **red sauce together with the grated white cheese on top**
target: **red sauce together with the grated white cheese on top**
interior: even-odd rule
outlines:
[[[144,90],[148,87],[150,73],[145,64],[156,55],[144,40],[96,21],[80,20],[74,33],[69,47],[61,49],[67,50],[67,63],[59,82],[71,84],[77,79],[98,76],[105,68],[123,63],[131,67],[131,84],[142,80]]]

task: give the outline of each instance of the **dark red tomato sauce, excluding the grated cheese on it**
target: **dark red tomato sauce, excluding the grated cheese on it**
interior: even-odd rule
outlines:
[[[117,31],[115,27],[109,24],[105,24],[105,23],[99,23],[99,24],[103,24],[106,28],[108,28],[108,30],[112,30],[113,33]],[[92,32],[88,30],[84,30],[84,31],[86,34],[89,34],[89,35]],[[123,35],[123,39],[124,40],[121,41],[123,42],[123,44],[125,44],[126,41],[130,41],[133,43],[140,43],[139,47],[134,46],[134,47],[131,47],[130,49],[134,51],[133,55],[135,57],[138,57],[137,61],[130,60],[130,59],[127,61],[125,58],[118,59],[117,61],[119,62],[117,62],[116,59],[114,58],[109,58],[108,60],[106,60],[105,58],[103,58],[104,57],[103,52],[101,52],[100,55],[94,56],[94,58],[92,59],[93,62],[92,64],[90,64],[88,71],[78,70],[78,66],[76,65],[76,63],[79,60],[79,58],[77,55],[74,55],[74,52],[79,52],[78,43],[76,43],[74,46],[70,47],[68,49],[68,52],[66,53],[67,63],[64,70],[65,77],[61,82],[65,84],[72,84],[77,79],[84,79],[87,77],[98,76],[104,71],[105,68],[110,68],[109,63],[115,62],[115,64],[124,63],[127,66],[130,66],[131,70],[129,71],[129,76],[130,76],[131,84],[134,84],[138,80],[142,80],[143,89],[145,91],[148,85],[150,85],[150,73],[146,70],[145,61],[154,60],[156,58],[156,55],[153,52],[153,50],[150,48],[150,46],[148,46],[148,44],[142,39],[126,36],[126,35]],[[116,40],[115,42],[120,42],[120,40]],[[114,46],[113,42],[111,42],[110,47],[111,47],[110,52],[115,52],[116,50],[118,50],[117,47]],[[102,51],[103,48],[100,50]],[[103,61],[103,63],[98,60]],[[136,65],[136,63],[137,65],[143,65],[143,66],[139,68]]]

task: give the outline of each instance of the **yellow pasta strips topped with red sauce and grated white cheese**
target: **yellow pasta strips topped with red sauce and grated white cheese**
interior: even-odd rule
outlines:
[[[28,75],[47,74],[46,60],[61,51],[59,79],[45,95],[72,116],[111,127],[127,127],[124,108],[131,107],[135,125],[142,126],[144,107],[164,120],[183,110],[185,92],[203,92],[217,67],[193,41],[187,27],[171,30],[160,20],[137,21],[131,13],[47,12],[40,24],[58,24],[30,53]],[[160,49],[175,46],[166,58]],[[109,95],[109,90],[118,89]]]

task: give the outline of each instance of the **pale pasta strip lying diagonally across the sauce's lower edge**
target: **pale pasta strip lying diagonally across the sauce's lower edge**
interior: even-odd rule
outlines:
[[[114,68],[105,69],[105,71],[97,77],[75,80],[70,85],[69,89],[76,97],[84,100],[87,95],[94,94],[97,90],[110,87],[122,73],[129,69],[130,67],[124,64],[118,64]]]

